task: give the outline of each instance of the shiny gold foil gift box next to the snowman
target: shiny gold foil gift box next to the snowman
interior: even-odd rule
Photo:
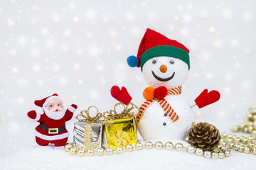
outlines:
[[[112,149],[126,147],[128,144],[136,145],[137,130],[134,117],[123,117],[106,120],[105,132],[107,145]]]

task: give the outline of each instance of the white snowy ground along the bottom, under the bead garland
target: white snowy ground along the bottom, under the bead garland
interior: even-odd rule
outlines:
[[[51,146],[33,145],[0,158],[0,169],[255,169],[255,155],[232,152],[224,159],[206,159],[185,150],[142,149],[112,156],[79,157]]]

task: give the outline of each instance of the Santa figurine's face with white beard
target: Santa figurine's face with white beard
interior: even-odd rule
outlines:
[[[60,120],[65,115],[63,104],[58,98],[53,98],[44,108],[46,115],[54,120]]]

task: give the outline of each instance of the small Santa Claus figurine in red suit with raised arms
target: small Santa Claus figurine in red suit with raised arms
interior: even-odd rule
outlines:
[[[58,94],[53,94],[35,101],[35,105],[43,109],[43,114],[36,111],[28,112],[28,117],[40,123],[35,130],[38,145],[54,144],[54,149],[63,149],[68,142],[68,130],[65,122],[73,117],[78,106],[72,104],[63,108],[63,101]]]

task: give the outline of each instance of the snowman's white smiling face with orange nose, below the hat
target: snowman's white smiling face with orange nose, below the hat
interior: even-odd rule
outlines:
[[[146,83],[154,89],[159,86],[173,89],[188,77],[188,64],[174,57],[153,57],[145,62],[142,72]]]

